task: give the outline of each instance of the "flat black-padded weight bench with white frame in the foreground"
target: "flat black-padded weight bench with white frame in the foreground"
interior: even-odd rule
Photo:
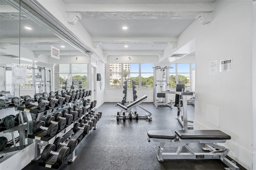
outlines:
[[[160,142],[158,146],[157,159],[163,162],[164,159],[219,159],[229,168],[226,170],[239,170],[234,161],[228,160],[226,155],[229,149],[217,143],[225,143],[231,137],[220,130],[175,130],[175,135],[170,130],[152,130],[148,131],[148,142],[152,139],[154,142]],[[171,147],[178,147],[176,152],[164,152],[164,144],[170,142]],[[195,153],[189,147],[188,143],[202,143],[208,152]],[[189,152],[182,152],[185,147]]]

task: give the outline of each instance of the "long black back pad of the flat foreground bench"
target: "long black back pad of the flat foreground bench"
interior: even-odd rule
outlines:
[[[231,139],[220,130],[175,130],[175,134],[181,139]]]

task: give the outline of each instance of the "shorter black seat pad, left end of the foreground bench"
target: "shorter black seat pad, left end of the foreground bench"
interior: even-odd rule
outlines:
[[[148,137],[157,139],[174,139],[175,135],[170,130],[150,130]]]

